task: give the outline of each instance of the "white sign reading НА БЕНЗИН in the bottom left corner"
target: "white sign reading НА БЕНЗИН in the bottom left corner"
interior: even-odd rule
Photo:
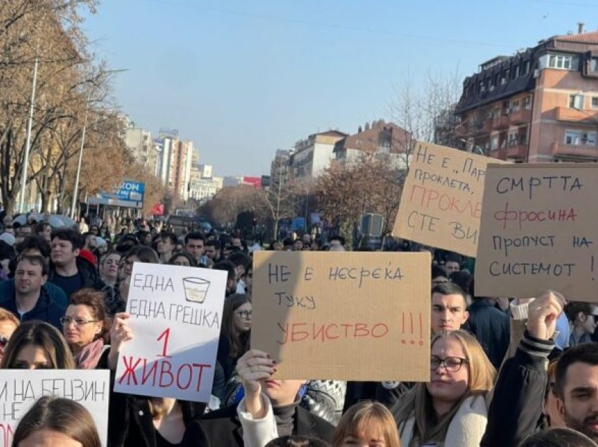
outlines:
[[[108,445],[108,370],[2,370],[0,375],[0,442],[10,446],[20,419],[42,396],[71,399],[96,422],[103,446]]]

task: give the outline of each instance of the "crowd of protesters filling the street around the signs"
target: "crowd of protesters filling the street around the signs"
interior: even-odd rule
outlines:
[[[253,253],[343,252],[333,236],[262,243],[216,231],[175,234],[161,221],[91,216],[0,233],[0,367],[108,369],[134,334],[126,313],[135,263],[215,268],[227,290],[209,403],[110,393],[110,446],[597,446],[598,315],[559,292],[479,297],[475,263],[428,250],[431,380],[276,380],[269,353],[251,349]],[[356,355],[359,355],[356,353]],[[14,446],[99,446],[94,420],[68,399],[39,399]]]

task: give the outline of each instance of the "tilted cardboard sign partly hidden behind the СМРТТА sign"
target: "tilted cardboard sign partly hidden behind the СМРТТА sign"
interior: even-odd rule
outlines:
[[[393,235],[475,257],[489,162],[500,160],[418,142]]]

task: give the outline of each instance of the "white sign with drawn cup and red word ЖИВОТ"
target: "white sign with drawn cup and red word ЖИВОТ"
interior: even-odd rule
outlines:
[[[226,285],[225,271],[136,262],[127,299],[134,339],[120,349],[115,391],[208,402]]]

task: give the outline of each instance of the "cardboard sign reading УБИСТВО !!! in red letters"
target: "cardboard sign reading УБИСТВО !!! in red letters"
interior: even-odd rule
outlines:
[[[251,347],[276,378],[430,379],[430,254],[255,252]]]

